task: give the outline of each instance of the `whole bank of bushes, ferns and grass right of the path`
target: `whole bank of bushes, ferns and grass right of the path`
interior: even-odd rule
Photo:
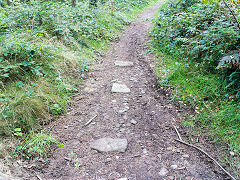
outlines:
[[[160,83],[195,109],[184,123],[240,152],[239,1],[167,2],[151,32]],[[232,153],[233,154],[233,153]]]

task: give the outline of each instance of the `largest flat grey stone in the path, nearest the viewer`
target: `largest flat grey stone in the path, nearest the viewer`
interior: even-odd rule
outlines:
[[[92,149],[100,152],[125,152],[127,145],[127,139],[118,138],[101,138],[90,143]]]

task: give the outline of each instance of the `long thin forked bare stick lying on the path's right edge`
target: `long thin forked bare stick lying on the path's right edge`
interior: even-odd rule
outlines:
[[[229,177],[231,177],[233,180],[236,180],[235,177],[233,177],[226,169],[224,169],[224,168],[221,166],[221,164],[219,164],[219,162],[218,162],[216,159],[214,159],[211,155],[209,155],[207,152],[205,152],[204,150],[200,149],[199,147],[197,147],[197,146],[195,146],[195,145],[193,145],[193,144],[189,144],[189,143],[183,141],[182,138],[181,138],[180,133],[179,133],[178,130],[177,130],[177,128],[176,128],[175,126],[173,126],[173,127],[174,127],[174,129],[175,129],[175,131],[176,131],[176,133],[177,133],[177,135],[178,135],[178,138],[179,138],[179,139],[174,139],[175,141],[178,141],[178,142],[180,142],[180,143],[182,143],[182,144],[185,144],[185,145],[187,145],[187,146],[193,147],[193,148],[197,149],[198,151],[202,152],[202,153],[205,154],[208,158],[210,158],[212,161],[214,161]]]

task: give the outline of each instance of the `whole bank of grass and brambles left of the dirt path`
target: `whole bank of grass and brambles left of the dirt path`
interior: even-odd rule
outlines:
[[[152,1],[0,1],[0,134],[28,157],[57,143],[39,132],[67,108],[89,64]],[[36,134],[39,133],[39,134]],[[63,146],[63,145],[60,145]]]

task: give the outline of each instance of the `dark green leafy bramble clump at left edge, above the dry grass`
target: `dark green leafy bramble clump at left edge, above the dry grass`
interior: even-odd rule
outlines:
[[[41,59],[53,56],[49,45],[31,42],[28,34],[9,34],[0,42],[0,80],[21,79],[26,73],[43,76]]]

